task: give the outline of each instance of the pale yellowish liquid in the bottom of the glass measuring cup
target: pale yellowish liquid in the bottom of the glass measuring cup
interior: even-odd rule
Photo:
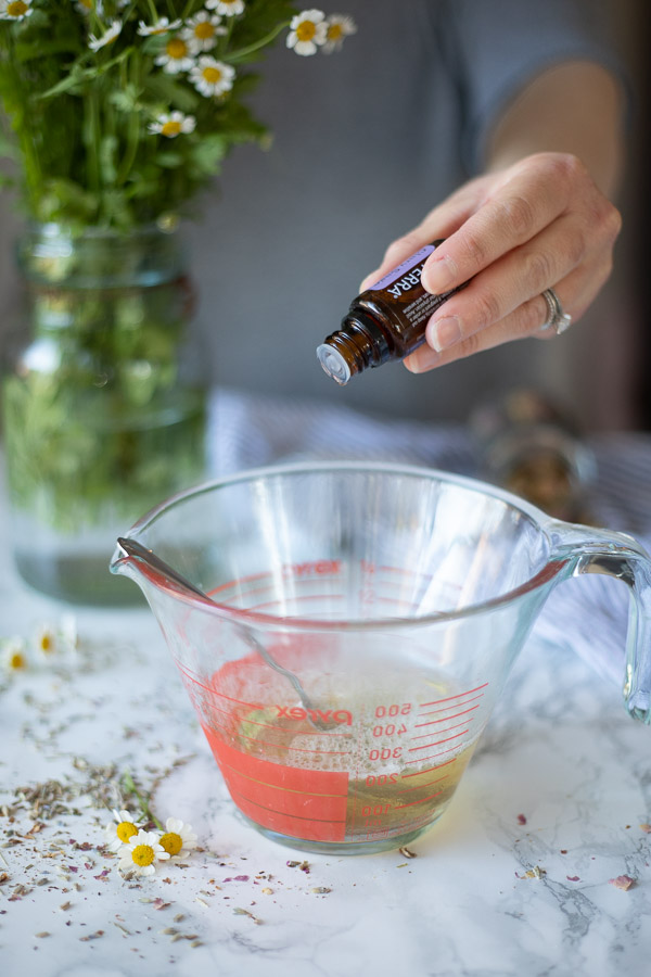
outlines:
[[[266,675],[266,701],[250,697],[263,691],[259,668],[257,656],[225,665],[200,710],[231,797],[259,830],[360,853],[400,847],[438,820],[485,723],[487,683],[461,689],[401,670],[342,695],[331,676],[303,671],[318,703],[307,710],[278,675]]]

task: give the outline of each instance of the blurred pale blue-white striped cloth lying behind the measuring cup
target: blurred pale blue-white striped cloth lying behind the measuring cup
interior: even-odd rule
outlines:
[[[376,420],[346,407],[224,389],[212,398],[208,443],[215,475],[334,459],[423,465],[474,478],[480,471],[464,424]],[[651,551],[651,434],[600,434],[586,439],[586,446],[595,459],[593,480],[586,486],[595,522],[630,533]],[[625,584],[584,575],[552,592],[535,632],[621,685],[628,606]]]

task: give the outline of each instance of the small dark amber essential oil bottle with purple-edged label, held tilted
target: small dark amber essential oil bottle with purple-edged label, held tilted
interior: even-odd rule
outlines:
[[[442,295],[422,287],[423,265],[442,243],[434,241],[421,248],[353,301],[341,328],[317,346],[329,377],[343,386],[367,367],[405,359],[424,343],[432,314],[468,284]]]

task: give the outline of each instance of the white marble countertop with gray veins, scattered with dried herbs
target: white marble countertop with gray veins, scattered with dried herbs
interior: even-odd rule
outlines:
[[[3,635],[65,611],[2,556]],[[0,683],[3,977],[649,974],[651,729],[578,657],[534,632],[413,858],[328,857],[239,820],[146,608],[74,613]],[[199,836],[150,878],[105,848],[127,771]]]

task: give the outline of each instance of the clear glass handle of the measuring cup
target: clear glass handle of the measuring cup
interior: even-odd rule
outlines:
[[[630,588],[626,633],[624,700],[629,714],[651,723],[651,558],[633,536],[557,522],[551,528],[556,559],[570,575],[603,573]]]

